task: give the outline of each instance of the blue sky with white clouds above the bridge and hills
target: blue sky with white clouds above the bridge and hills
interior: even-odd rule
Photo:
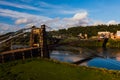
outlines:
[[[120,0],[0,0],[0,34],[45,24],[51,30],[120,23]]]

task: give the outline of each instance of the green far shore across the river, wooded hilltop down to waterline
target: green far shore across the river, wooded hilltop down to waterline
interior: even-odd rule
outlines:
[[[61,38],[60,44],[72,45],[78,47],[102,47],[103,40],[98,41],[98,32],[110,32],[114,36],[120,31],[120,24],[118,25],[96,25],[96,26],[76,26],[68,29],[59,29],[57,31],[50,31],[54,37]],[[87,34],[87,39],[80,39],[81,34]],[[112,37],[112,36],[111,36]],[[120,38],[109,39],[106,47],[120,48]]]

